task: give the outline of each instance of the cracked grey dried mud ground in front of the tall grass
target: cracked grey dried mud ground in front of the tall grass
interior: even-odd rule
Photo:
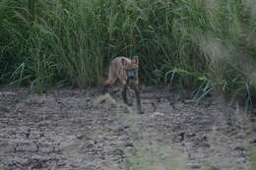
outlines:
[[[131,91],[130,91],[131,92]],[[130,94],[130,98],[134,95]],[[144,87],[143,115],[120,91],[0,89],[1,170],[253,170],[256,119],[212,95],[200,104]],[[254,134],[253,134],[254,132]]]

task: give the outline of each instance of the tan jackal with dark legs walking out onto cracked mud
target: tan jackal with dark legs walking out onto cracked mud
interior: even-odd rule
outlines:
[[[135,91],[137,110],[138,113],[142,114],[139,88],[139,58],[137,56],[133,59],[116,57],[110,62],[108,78],[103,85],[113,85],[116,80],[119,80],[123,85],[122,97],[124,103],[130,105],[126,96],[127,87],[130,86]]]

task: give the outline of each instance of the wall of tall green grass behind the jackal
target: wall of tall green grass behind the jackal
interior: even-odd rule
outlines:
[[[250,103],[255,11],[253,0],[1,0],[0,82],[98,85],[109,59],[138,55],[144,84]]]

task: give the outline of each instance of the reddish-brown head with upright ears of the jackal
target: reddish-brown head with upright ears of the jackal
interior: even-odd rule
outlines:
[[[136,80],[138,78],[139,58],[135,56],[133,59],[131,59],[131,62],[128,62],[125,59],[122,59],[121,62],[124,66],[126,78]]]

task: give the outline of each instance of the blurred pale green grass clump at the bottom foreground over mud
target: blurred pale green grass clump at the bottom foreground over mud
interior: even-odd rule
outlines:
[[[185,170],[186,156],[158,142],[137,142],[133,153],[126,157],[127,170]]]

